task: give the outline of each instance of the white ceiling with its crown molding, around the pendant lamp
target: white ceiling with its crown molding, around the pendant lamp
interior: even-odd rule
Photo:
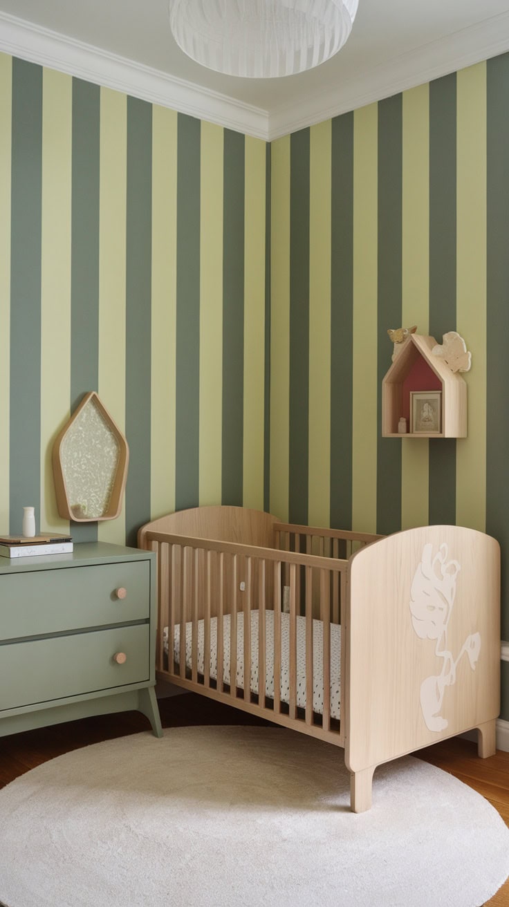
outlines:
[[[282,79],[193,63],[168,0],[0,0],[0,50],[273,139],[509,50],[509,2],[359,0],[342,50]]]

